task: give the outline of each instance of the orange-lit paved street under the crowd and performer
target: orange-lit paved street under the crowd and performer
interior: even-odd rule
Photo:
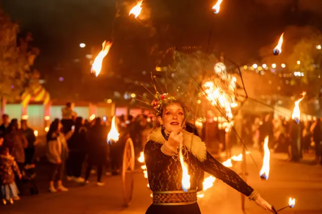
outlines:
[[[238,150],[234,154],[238,154]],[[261,167],[261,157],[252,151],[258,165]],[[315,214],[322,213],[322,167],[304,163],[289,163],[286,155],[271,155],[271,172],[268,181],[259,178],[258,170],[250,157],[248,160],[248,183],[257,189],[262,196],[275,207],[287,205],[289,197],[296,198],[295,208],[285,209],[285,214]],[[240,171],[240,162],[233,167]],[[42,192],[37,196],[24,196],[14,205],[0,206],[3,213],[95,213],[95,214],[138,214],[144,213],[150,204],[150,191],[146,187],[147,181],[143,174],[134,176],[135,188],[133,200],[128,208],[122,207],[122,191],[120,177],[106,177],[106,185],[96,186],[95,175],[93,182],[87,186],[79,186],[65,182],[70,188],[66,193],[46,193],[45,177],[39,175],[38,181]],[[198,200],[203,214],[243,213],[241,211],[240,194],[216,181],[215,185],[206,190],[205,197]],[[269,213],[261,210],[254,202],[246,201],[246,213]]]

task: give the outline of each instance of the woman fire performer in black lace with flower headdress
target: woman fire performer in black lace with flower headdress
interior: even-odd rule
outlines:
[[[144,148],[148,182],[153,192],[153,202],[146,214],[201,213],[196,192],[200,169],[245,194],[263,209],[273,212],[272,205],[256,190],[207,152],[205,143],[199,137],[184,131],[185,105],[173,97],[165,98],[167,94],[163,95],[159,101],[152,102],[160,127],[151,133]],[[188,192],[183,191],[181,186],[180,144],[183,144],[184,160],[190,175],[191,188]]]

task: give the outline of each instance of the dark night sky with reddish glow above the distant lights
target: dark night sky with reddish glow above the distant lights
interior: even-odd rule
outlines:
[[[216,1],[146,0],[140,23],[128,17],[136,1],[119,3],[114,45],[102,73],[114,71],[138,79],[159,57],[150,53],[150,46],[157,44],[157,51],[206,46],[212,22],[211,45],[236,63],[258,57],[260,48],[276,43],[289,26],[322,27],[320,0],[223,0],[218,15],[211,11]],[[33,34],[33,45],[41,51],[35,66],[47,77],[56,75],[53,67],[58,63],[84,57],[91,46],[100,48],[104,40],[111,40],[115,5],[109,0],[2,1],[22,32]],[[81,42],[86,49],[79,48]]]

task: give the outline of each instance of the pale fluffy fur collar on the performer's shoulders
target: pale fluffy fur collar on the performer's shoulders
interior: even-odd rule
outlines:
[[[187,147],[188,151],[198,158],[199,161],[203,162],[206,160],[207,150],[206,145],[202,140],[185,130],[183,132],[183,144]],[[148,141],[154,141],[159,144],[164,144],[165,138],[162,135],[161,128],[154,130],[147,138]]]

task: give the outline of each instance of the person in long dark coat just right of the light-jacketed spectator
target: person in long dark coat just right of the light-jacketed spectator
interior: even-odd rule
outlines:
[[[76,118],[74,134],[67,142],[69,150],[69,158],[66,161],[67,180],[84,182],[81,174],[86,157],[86,146],[88,145],[86,133],[87,129],[84,126],[83,118]]]

